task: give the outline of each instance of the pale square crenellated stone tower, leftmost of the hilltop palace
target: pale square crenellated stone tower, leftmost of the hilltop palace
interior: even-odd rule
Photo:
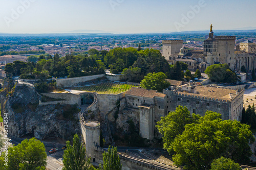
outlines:
[[[163,43],[163,56],[166,60],[169,60],[169,56],[180,52],[180,48],[183,46],[183,40],[167,40]]]

